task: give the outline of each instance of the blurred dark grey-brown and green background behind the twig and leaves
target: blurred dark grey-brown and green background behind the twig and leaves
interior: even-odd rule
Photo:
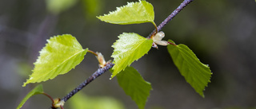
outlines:
[[[157,25],[182,2],[147,1],[154,6]],[[32,73],[38,51],[50,37],[72,34],[84,49],[101,52],[106,60],[113,60],[111,45],[119,34],[134,32],[148,36],[154,29],[150,23],[113,25],[96,18],[126,2],[136,0],[0,0],[1,108],[16,108],[37,85],[22,87]],[[202,98],[180,75],[166,47],[151,49],[149,54],[131,64],[153,87],[146,109],[256,108],[254,0],[194,0],[162,31],[166,33],[163,40],[171,39],[190,47],[202,63],[210,65],[213,75]],[[95,56],[87,53],[85,60],[66,75],[43,82],[44,91],[54,98],[62,98],[97,69]],[[106,72],[84,88],[81,95],[74,95],[65,109],[87,109],[91,104],[103,106],[107,102],[112,106],[106,106],[110,109],[138,108],[118,86],[116,78],[109,80],[110,75]],[[78,102],[83,106],[76,107]],[[22,109],[45,109],[50,103],[46,96],[34,95]]]

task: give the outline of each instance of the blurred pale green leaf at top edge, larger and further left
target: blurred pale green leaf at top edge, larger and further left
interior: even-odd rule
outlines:
[[[74,6],[78,0],[46,0],[46,8],[53,14],[59,14]]]

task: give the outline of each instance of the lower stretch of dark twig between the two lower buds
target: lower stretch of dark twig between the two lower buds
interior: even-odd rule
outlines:
[[[91,81],[95,80],[98,76],[101,76],[104,72],[108,71],[110,68],[113,68],[114,64],[112,63],[107,63],[106,67],[104,68],[98,68],[94,74],[92,74],[87,80],[82,82],[82,84],[78,85],[77,88],[74,88],[73,91],[70,91],[69,94],[64,96],[62,100],[66,102],[68,99],[70,99],[74,94],[76,94],[78,91],[80,91],[82,88],[86,87],[87,84],[90,84]]]

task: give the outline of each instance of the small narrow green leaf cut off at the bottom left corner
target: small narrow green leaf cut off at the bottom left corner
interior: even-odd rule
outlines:
[[[18,104],[18,107],[16,109],[19,109],[23,106],[24,103],[26,103],[27,99],[30,99],[32,95],[37,95],[37,94],[42,94],[43,89],[42,89],[42,84],[39,84],[37,87],[35,87],[33,90],[31,90],[24,99],[22,99],[22,102]]]

